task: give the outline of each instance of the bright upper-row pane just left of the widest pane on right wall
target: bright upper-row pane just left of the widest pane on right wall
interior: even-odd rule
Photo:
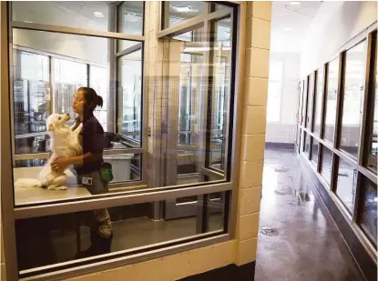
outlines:
[[[334,127],[336,122],[336,98],[339,81],[339,58],[332,60],[328,65],[328,90],[324,124],[324,139],[333,142]]]

